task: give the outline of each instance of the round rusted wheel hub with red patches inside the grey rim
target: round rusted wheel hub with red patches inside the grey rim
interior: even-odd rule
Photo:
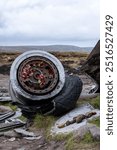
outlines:
[[[59,74],[52,61],[44,57],[30,57],[18,68],[18,82],[32,94],[46,94],[52,91],[59,80]]]

